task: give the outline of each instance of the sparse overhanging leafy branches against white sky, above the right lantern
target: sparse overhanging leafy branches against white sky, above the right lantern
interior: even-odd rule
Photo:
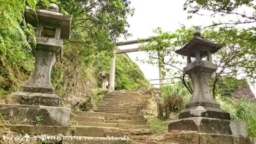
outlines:
[[[246,9],[245,11],[242,11]],[[211,26],[221,25],[237,25],[237,24],[250,24],[256,22],[256,3],[252,0],[187,0],[184,3],[184,10],[189,14],[205,15],[202,10],[211,12],[211,17],[220,15],[221,17],[228,17],[236,15],[236,20],[230,20],[225,22],[214,22]],[[191,18],[189,15],[188,18]],[[208,27],[211,27],[208,26]]]

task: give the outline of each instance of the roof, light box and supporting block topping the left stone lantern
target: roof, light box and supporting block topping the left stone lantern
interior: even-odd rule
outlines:
[[[58,10],[56,4],[50,4],[47,10],[37,10],[36,13],[26,7],[26,19],[36,28],[36,49],[55,52],[56,59],[62,54],[63,42],[60,38],[70,38],[72,19],[72,15],[63,15]],[[33,44],[31,38],[29,43]]]

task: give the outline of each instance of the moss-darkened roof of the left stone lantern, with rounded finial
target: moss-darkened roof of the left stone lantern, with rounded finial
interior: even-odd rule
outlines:
[[[37,27],[38,24],[60,26],[61,38],[69,39],[72,15],[63,15],[58,13],[58,10],[59,8],[56,4],[50,4],[48,10],[36,10],[36,12],[26,6],[26,20],[33,27]]]

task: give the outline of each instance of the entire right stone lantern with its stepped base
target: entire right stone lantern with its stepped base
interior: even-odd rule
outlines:
[[[197,31],[187,45],[175,51],[188,58],[188,65],[183,68],[183,71],[189,75],[193,83],[193,93],[186,104],[186,109],[179,114],[179,120],[168,124],[168,131],[198,131],[246,136],[246,125],[242,122],[232,122],[230,114],[220,109],[220,104],[213,99],[209,90],[211,74],[218,68],[212,63],[212,54],[220,48],[218,44],[206,40]],[[194,61],[191,58],[194,58]]]

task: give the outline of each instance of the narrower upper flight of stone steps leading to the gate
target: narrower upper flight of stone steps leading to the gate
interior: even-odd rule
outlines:
[[[111,92],[100,100],[98,108],[94,111],[120,115],[140,114],[140,109],[145,108],[148,104],[149,93],[150,91],[147,90],[120,90]]]

